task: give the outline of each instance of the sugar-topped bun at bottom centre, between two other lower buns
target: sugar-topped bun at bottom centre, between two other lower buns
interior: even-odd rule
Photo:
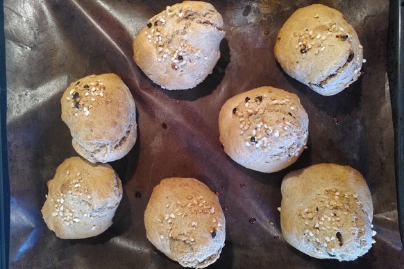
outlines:
[[[214,263],[226,238],[217,195],[194,178],[167,178],[155,186],[144,211],[144,226],[155,248],[184,267]]]

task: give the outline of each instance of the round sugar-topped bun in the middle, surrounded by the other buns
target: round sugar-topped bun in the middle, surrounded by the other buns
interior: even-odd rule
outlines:
[[[233,96],[219,113],[224,151],[238,164],[264,173],[296,162],[308,141],[308,125],[298,96],[269,86]]]

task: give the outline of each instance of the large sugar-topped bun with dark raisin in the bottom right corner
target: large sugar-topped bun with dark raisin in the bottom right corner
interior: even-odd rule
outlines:
[[[317,164],[283,178],[283,238],[318,259],[351,261],[371,248],[373,205],[362,175],[350,166]]]

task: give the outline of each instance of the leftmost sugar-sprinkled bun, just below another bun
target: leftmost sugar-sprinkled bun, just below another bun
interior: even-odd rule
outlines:
[[[65,159],[48,182],[42,216],[62,239],[87,238],[112,225],[122,198],[122,184],[109,164],[91,164],[81,157]]]

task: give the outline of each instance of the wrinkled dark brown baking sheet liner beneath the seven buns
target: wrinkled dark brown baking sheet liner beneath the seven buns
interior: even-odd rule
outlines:
[[[196,177],[219,192],[226,246],[212,268],[400,268],[394,138],[386,76],[389,1],[319,1],[344,13],[364,46],[364,75],[336,96],[319,96],[287,76],[273,57],[276,33],[313,1],[211,1],[224,17],[221,59],[195,89],[170,92],[132,60],[133,37],[174,1],[4,1],[10,171],[10,268],[179,268],[146,239],[143,213],[165,177]],[[73,80],[117,73],[137,104],[138,140],[112,162],[124,184],[114,223],[94,238],[61,240],[40,209],[46,182],[77,155],[60,119],[60,96]],[[278,173],[235,164],[219,142],[221,105],[271,85],[298,94],[308,112],[308,150]],[[280,182],[297,168],[348,164],[367,180],[377,243],[351,262],[319,260],[289,246],[280,232]],[[255,223],[250,219],[255,218]]]

